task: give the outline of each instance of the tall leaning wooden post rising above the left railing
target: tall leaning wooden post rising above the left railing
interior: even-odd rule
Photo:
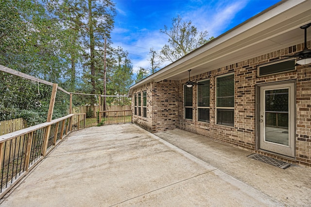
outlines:
[[[53,115],[53,110],[54,110],[56,93],[57,93],[57,84],[53,83],[47,122],[52,121],[52,115]],[[48,126],[48,128],[45,132],[44,141],[43,141],[43,148],[42,148],[42,155],[43,156],[47,155],[47,148],[48,148],[48,141],[49,141],[49,137],[50,137],[50,132],[51,132],[51,125]]]

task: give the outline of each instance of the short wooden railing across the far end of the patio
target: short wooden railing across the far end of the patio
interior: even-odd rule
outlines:
[[[98,111],[100,124],[132,123],[132,110]]]

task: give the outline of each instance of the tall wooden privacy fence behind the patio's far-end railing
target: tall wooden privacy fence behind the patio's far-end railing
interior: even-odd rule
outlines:
[[[96,117],[96,112],[97,111],[102,111],[102,107],[100,106],[79,106],[79,107],[73,107],[73,113],[86,113],[87,116],[89,111],[92,111],[92,115],[89,116],[91,117]],[[131,106],[125,105],[125,106],[106,106],[105,111],[123,111],[123,110],[132,110]]]

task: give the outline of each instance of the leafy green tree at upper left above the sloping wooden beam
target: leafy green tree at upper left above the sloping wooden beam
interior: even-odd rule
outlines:
[[[0,1],[0,64],[56,82],[64,71],[62,28],[42,1]]]

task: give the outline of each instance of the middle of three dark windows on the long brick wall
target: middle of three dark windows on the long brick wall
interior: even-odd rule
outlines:
[[[198,121],[209,122],[209,80],[203,80],[198,85]]]

